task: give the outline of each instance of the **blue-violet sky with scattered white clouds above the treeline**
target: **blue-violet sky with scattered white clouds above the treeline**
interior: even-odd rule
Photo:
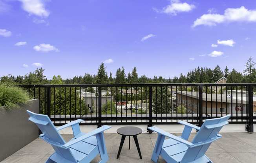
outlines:
[[[173,78],[199,67],[243,71],[256,59],[255,0],[0,0],[0,76]]]

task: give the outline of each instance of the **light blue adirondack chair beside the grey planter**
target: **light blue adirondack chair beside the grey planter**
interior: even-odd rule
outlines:
[[[49,157],[46,163],[90,163],[98,154],[101,156],[100,163],[108,161],[103,131],[109,129],[110,126],[104,125],[85,134],[80,131],[79,127],[79,122],[83,120],[72,121],[56,128],[48,116],[35,114],[29,110],[27,113],[30,116],[29,120],[34,122],[42,131],[40,138],[49,143],[55,150],[55,153]],[[58,131],[70,126],[74,138],[66,143]]]

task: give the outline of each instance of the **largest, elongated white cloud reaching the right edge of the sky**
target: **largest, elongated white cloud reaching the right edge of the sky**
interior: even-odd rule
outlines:
[[[194,21],[192,27],[197,25],[215,26],[224,22],[256,22],[256,10],[249,10],[241,6],[240,8],[228,8],[224,14],[203,14]]]

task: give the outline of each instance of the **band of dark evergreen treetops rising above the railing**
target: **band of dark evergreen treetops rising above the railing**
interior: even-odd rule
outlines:
[[[127,76],[125,74],[124,67],[118,68],[115,76],[110,72],[106,72],[106,67],[102,62],[99,66],[97,75],[95,74],[84,74],[84,76],[74,76],[72,79],[63,80],[64,84],[94,84],[94,83],[214,83],[218,81],[221,77],[225,76],[228,83],[256,83],[256,63],[252,57],[245,63],[245,70],[243,73],[236,71],[236,69],[229,70],[228,67],[225,68],[224,72],[221,70],[219,65],[214,69],[208,67],[197,67],[196,69],[189,71],[187,75],[182,73],[179,77],[174,77],[173,79],[165,79],[163,76],[154,76],[153,79],[148,78],[146,75],[137,74],[137,68],[134,67],[132,73],[128,72]],[[35,72],[30,72],[25,76],[13,76],[6,75],[2,76],[1,82],[12,82],[15,84],[49,84],[51,80],[47,80],[44,76],[44,69],[36,69]]]

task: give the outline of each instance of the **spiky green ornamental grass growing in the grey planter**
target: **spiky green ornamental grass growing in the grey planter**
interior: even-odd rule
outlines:
[[[30,100],[30,96],[27,91],[11,83],[0,84],[0,106],[4,106],[6,109],[17,107],[18,104],[24,104]]]

